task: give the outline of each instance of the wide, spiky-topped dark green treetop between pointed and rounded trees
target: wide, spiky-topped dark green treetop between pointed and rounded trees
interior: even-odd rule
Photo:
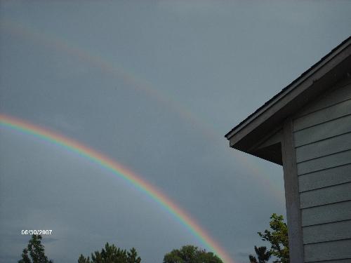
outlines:
[[[78,263],[140,263],[141,258],[138,257],[138,252],[132,248],[128,252],[121,250],[115,245],[106,243],[105,249],[102,248],[101,252],[95,251],[91,253],[91,259],[80,255]]]

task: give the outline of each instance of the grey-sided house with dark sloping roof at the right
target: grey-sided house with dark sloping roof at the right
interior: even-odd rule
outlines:
[[[351,262],[351,37],[227,135],[283,166],[290,262]]]

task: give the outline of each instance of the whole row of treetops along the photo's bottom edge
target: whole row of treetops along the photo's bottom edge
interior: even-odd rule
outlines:
[[[258,232],[262,241],[270,243],[271,248],[254,246],[256,256],[249,255],[250,263],[266,263],[271,257],[273,263],[289,263],[288,228],[282,215],[272,214],[270,230]],[[41,235],[32,235],[26,248],[22,250],[22,259],[18,263],[53,263],[45,255]],[[80,255],[78,263],[140,263],[141,258],[135,248],[125,250],[109,243],[101,251],[91,253],[91,256]],[[213,252],[207,252],[194,245],[183,245],[180,249],[172,250],[164,255],[163,263],[223,263],[222,259]]]

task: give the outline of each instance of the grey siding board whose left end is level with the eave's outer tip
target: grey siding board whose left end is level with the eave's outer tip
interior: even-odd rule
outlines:
[[[343,133],[351,133],[351,115],[295,132],[295,147],[342,135]]]

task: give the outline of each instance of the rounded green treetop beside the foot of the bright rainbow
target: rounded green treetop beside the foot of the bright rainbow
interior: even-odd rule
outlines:
[[[164,263],[223,263],[222,260],[213,254],[200,250],[194,245],[183,245],[180,250],[172,250],[164,255]]]

